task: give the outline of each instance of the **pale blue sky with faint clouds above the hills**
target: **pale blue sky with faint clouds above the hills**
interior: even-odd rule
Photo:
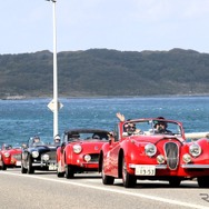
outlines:
[[[3,0],[0,54],[53,51],[53,3]],[[57,52],[88,49],[209,53],[209,0],[57,0]]]

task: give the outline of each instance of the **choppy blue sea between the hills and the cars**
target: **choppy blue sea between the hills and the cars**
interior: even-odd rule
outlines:
[[[0,143],[26,142],[39,135],[52,140],[53,113],[48,109],[51,99],[0,100]],[[70,128],[112,130],[117,112],[129,118],[162,116],[179,120],[186,132],[209,131],[209,97],[158,98],[61,98],[59,133]]]

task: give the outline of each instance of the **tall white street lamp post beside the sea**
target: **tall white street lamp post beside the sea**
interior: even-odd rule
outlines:
[[[52,111],[53,111],[53,137],[58,132],[58,64],[57,64],[57,31],[56,31],[56,1],[47,0],[53,3],[53,100],[52,100]]]

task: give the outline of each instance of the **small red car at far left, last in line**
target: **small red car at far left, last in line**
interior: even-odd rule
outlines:
[[[16,168],[21,166],[21,147],[18,145],[3,143],[0,150],[0,169]]]

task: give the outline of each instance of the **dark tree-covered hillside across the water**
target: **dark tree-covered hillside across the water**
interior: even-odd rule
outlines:
[[[52,97],[50,51],[0,56],[0,98]],[[192,50],[58,53],[60,97],[208,94],[209,54]]]

